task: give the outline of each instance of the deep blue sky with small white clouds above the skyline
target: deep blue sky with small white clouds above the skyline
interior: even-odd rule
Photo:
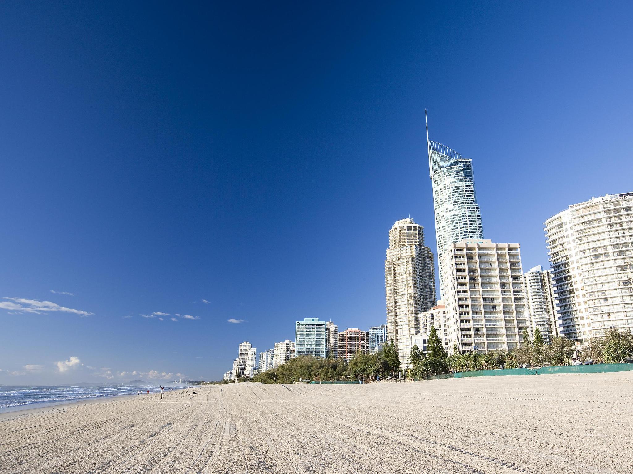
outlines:
[[[391,225],[435,252],[425,108],[524,269],[633,190],[630,4],[0,9],[0,383],[220,378],[298,319],[384,323]]]

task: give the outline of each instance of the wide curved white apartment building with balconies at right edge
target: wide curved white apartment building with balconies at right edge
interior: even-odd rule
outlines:
[[[584,344],[633,332],[633,192],[573,204],[545,232],[561,334]]]

